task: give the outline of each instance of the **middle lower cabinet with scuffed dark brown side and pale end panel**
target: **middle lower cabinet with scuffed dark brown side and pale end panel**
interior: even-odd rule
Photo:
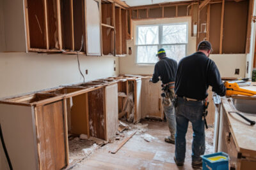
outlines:
[[[95,87],[95,89],[88,92],[88,99],[86,99],[86,105],[88,104],[86,107],[88,110],[88,134],[109,141],[115,136],[118,129],[117,83],[92,81],[77,86]],[[76,122],[76,120],[72,121]]]

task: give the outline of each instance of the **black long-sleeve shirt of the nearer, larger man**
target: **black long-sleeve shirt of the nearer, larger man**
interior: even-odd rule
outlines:
[[[208,96],[209,85],[213,92],[225,96],[226,88],[214,61],[202,52],[193,53],[180,60],[175,78],[177,96],[197,100],[205,99]]]

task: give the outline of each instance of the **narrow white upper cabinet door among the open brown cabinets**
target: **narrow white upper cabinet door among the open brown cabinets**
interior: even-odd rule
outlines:
[[[101,55],[100,0],[86,0],[86,53]]]

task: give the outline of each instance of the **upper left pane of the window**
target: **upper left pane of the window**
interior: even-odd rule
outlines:
[[[156,45],[158,44],[158,26],[139,26],[137,36],[137,45]]]

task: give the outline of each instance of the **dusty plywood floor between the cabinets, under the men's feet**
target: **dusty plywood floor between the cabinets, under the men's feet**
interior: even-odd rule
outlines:
[[[109,153],[109,151],[115,149],[121,141],[114,141],[99,148],[92,154],[92,157],[77,164],[73,169],[192,169],[191,125],[189,125],[186,136],[186,162],[183,167],[177,167],[173,161],[175,146],[164,142],[164,136],[170,134],[167,124],[148,121],[142,121],[141,124],[131,124],[131,130],[124,132],[124,136],[129,136],[134,129],[139,130],[116,154]],[[213,128],[205,132],[205,153],[213,153]],[[148,136],[153,137],[149,138],[150,142],[143,139]]]

